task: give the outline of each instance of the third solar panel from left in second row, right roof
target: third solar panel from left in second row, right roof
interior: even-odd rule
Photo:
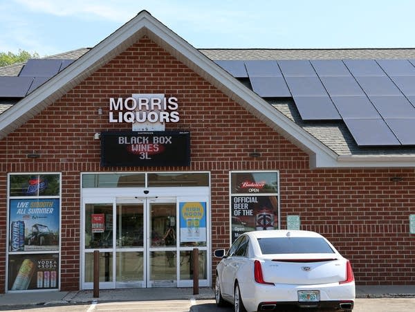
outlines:
[[[330,96],[365,95],[353,77],[321,77]]]

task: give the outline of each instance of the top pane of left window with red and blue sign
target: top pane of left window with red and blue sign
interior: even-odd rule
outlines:
[[[10,196],[59,196],[59,174],[11,174]]]

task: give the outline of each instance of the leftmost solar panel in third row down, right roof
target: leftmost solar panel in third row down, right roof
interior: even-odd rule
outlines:
[[[328,96],[297,96],[294,102],[302,120],[342,119]]]

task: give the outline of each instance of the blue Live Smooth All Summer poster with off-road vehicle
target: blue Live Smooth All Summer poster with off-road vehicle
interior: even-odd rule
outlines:
[[[10,252],[59,250],[59,199],[10,199]]]

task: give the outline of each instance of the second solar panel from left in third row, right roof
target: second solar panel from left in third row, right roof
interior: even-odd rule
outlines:
[[[338,109],[340,116],[346,118],[380,119],[378,111],[367,96],[332,96],[331,100]]]

